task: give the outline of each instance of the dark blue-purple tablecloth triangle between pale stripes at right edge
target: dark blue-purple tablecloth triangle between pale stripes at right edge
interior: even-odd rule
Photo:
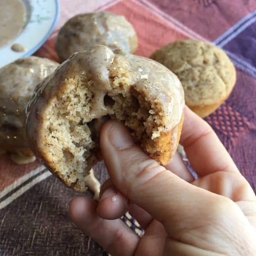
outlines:
[[[227,43],[224,48],[241,60],[256,67],[256,22]]]

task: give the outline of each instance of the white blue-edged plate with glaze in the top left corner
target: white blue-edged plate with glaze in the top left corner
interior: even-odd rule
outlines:
[[[20,23],[23,25],[20,31],[17,32],[17,35],[12,34],[13,37],[9,38],[9,40],[7,38],[6,41],[2,40],[2,44],[0,40],[0,68],[18,58],[25,58],[32,55],[38,50],[52,34],[60,12],[58,0],[8,0],[3,2],[5,5],[11,4],[11,2],[15,6],[21,7],[22,5],[24,19],[20,20]],[[0,3],[0,8],[5,8],[3,2]],[[12,9],[9,8],[8,10]],[[12,12],[3,13],[0,10],[0,15],[13,16],[14,18],[12,20],[15,20],[15,17],[19,16],[19,13],[16,16]],[[3,18],[0,17],[0,20],[3,20]],[[9,26],[9,31],[14,30],[10,24],[7,24],[7,26]],[[3,27],[0,28],[3,29]]]

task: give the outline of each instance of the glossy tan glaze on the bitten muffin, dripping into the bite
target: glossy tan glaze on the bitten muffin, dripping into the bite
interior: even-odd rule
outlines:
[[[47,84],[59,84],[61,76],[67,69],[71,73],[79,70],[90,70],[92,73],[94,98],[88,122],[91,119],[100,118],[108,114],[104,105],[104,96],[111,90],[108,69],[113,63],[113,58],[123,58],[129,62],[128,70],[133,73],[132,83],[134,88],[138,92],[144,93],[150,100],[157,99],[162,104],[165,127],[163,131],[171,131],[180,122],[185,104],[183,88],[177,76],[154,60],[131,55],[122,50],[112,52],[111,49],[102,45],[95,45],[90,51],[74,53],[67,61],[61,64],[55,74],[48,76],[47,79],[39,84],[38,90],[36,90],[27,107],[26,117],[30,116],[30,111],[33,111],[30,106],[40,98],[43,91],[44,94],[52,94],[58,89],[58,86],[51,87],[47,86]],[[37,105],[38,111],[40,111],[43,107],[39,104]],[[34,131],[29,132],[33,134]],[[154,134],[152,139],[160,136],[160,132],[159,134]]]

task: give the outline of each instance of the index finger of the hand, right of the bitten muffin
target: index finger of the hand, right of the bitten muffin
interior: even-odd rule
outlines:
[[[188,107],[184,109],[180,144],[198,176],[218,171],[239,172],[212,128]]]

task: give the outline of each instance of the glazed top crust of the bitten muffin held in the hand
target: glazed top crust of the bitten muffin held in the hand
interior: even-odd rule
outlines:
[[[128,88],[123,85],[125,90],[133,88],[143,93],[148,101],[155,101],[160,106],[163,111],[164,129],[157,131],[154,137],[159,137],[160,132],[171,131],[179,123],[184,107],[184,92],[177,76],[154,60],[135,56],[120,49],[112,51],[102,45],[74,53],[55,70],[55,73],[38,84],[26,109],[27,118],[37,116],[30,113],[35,112],[34,105],[37,105],[37,110],[41,113],[56,94],[64,93],[62,92],[64,81],[88,72],[93,84],[90,86],[93,88],[91,90],[94,99],[91,102],[90,114],[84,117],[83,122],[107,114],[104,96],[115,89],[117,86],[115,84],[121,83],[128,84]],[[113,77],[114,81],[112,81]],[[33,133],[33,130],[28,132],[28,134]]]

